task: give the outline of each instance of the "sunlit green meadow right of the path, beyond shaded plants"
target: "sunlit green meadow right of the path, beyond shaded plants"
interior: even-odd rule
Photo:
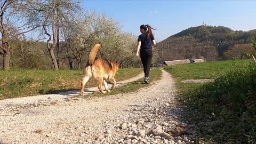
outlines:
[[[249,64],[249,60],[236,60],[237,67]],[[204,63],[188,63],[182,65],[174,65],[166,67],[165,70],[169,71],[175,77],[175,82],[178,86],[178,91],[182,94],[189,93],[198,87],[204,85],[202,83],[182,83],[185,79],[205,79],[216,78],[225,74],[230,70],[233,65],[232,61],[212,61]]]

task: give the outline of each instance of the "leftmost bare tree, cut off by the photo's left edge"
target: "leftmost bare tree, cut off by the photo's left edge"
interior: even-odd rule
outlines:
[[[3,55],[3,69],[10,67],[11,50],[10,41],[14,37],[28,33],[39,26],[33,25],[35,9],[29,0],[1,0],[0,1],[0,54]]]

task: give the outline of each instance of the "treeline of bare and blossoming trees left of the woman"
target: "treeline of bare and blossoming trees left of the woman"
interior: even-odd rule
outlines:
[[[120,31],[114,18],[84,10],[78,1],[1,0],[0,5],[0,66],[5,70],[82,68],[95,43],[102,45],[100,57],[117,59],[121,68],[140,66],[137,37]]]

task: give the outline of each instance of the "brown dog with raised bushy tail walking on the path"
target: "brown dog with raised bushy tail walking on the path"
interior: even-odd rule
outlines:
[[[80,95],[84,94],[84,85],[92,76],[99,81],[98,87],[101,93],[106,93],[106,91],[109,92],[108,84],[106,82],[107,79],[113,84],[111,89],[115,88],[115,74],[118,70],[118,61],[96,58],[99,48],[100,44],[95,44],[89,54],[89,60],[84,68]],[[102,83],[105,85],[106,91],[102,91]]]

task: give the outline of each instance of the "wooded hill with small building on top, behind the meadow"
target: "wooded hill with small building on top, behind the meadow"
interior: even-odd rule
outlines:
[[[256,29],[234,31],[223,26],[190,27],[157,43],[158,61],[162,61],[162,44],[164,61],[244,59],[245,52],[254,51],[251,45],[253,35],[256,35]]]

